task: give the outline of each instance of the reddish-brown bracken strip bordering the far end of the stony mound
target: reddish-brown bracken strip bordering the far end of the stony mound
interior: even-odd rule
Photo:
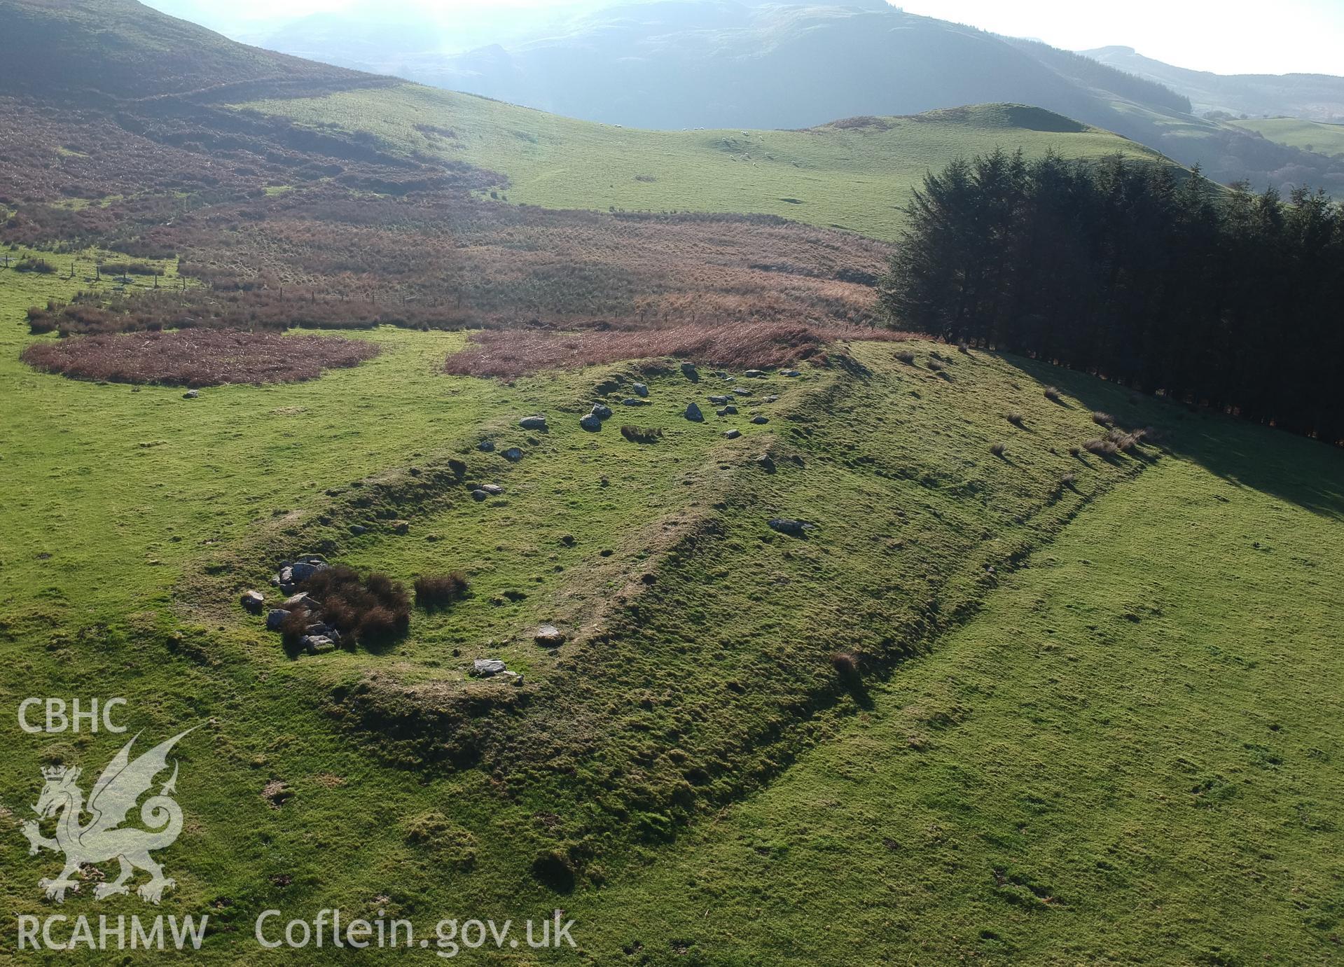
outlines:
[[[620,360],[672,356],[728,369],[765,369],[817,357],[843,338],[910,338],[870,326],[788,322],[703,322],[655,329],[589,332],[485,330],[444,364],[456,376],[513,379],[542,369],[578,369]]]

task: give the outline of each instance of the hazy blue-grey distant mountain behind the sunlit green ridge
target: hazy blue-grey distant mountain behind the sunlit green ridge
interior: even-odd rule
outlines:
[[[531,30],[515,16],[487,16],[470,26],[469,40],[480,44],[473,50],[458,48],[429,13],[421,13],[423,30],[401,31],[395,46],[380,47],[371,27],[378,16],[355,7],[324,15],[312,31],[300,21],[263,34],[262,43],[649,129],[798,129],[855,116],[1024,103],[1199,164],[1216,181],[1344,191],[1339,163],[1198,117],[1183,91],[1141,71],[906,13],[883,0],[562,7]]]

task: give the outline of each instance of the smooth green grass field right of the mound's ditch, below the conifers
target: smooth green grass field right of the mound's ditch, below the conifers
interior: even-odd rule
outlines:
[[[835,741],[570,909],[648,963],[1333,963],[1337,454],[1175,439]]]

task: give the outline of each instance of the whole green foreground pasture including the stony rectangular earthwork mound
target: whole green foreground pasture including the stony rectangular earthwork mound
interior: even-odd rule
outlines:
[[[164,912],[211,917],[198,962],[249,955],[267,907],[421,931],[562,907],[595,963],[1332,950],[1339,451],[926,342],[792,380],[646,371],[617,422],[653,446],[577,426],[633,367],[446,376],[456,333],[378,329],[353,369],[187,400],[17,363],[23,308],[71,285],[0,270],[0,693],[97,684],[146,737],[207,723],[163,854]],[[731,387],[738,416],[680,415]],[[1093,408],[1164,449],[1071,457]],[[519,430],[536,411],[551,431]],[[237,594],[313,548],[473,594],[388,650],[292,659]],[[487,655],[526,684],[466,677]],[[12,735],[3,807],[120,744]],[[0,894],[48,912],[54,858],[9,833]],[[556,856],[573,892],[536,873]],[[140,909],[93,904],[62,912]]]

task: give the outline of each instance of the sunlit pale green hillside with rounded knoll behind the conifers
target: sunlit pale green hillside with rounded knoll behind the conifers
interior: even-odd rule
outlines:
[[[407,154],[508,177],[509,201],[554,208],[761,212],[895,239],[910,189],[948,160],[995,148],[1067,157],[1160,156],[1036,107],[981,105],[808,130],[649,132],[403,85],[245,107],[367,130]]]

